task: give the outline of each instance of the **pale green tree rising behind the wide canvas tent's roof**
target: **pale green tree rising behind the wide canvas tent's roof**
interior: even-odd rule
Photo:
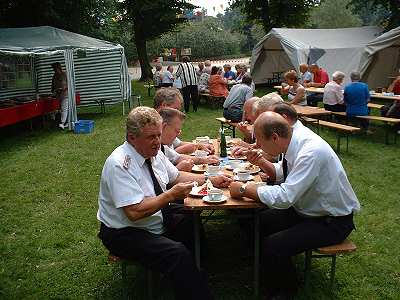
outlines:
[[[310,13],[313,28],[346,28],[362,25],[361,19],[353,14],[350,0],[325,0]],[[334,12],[334,13],[332,13]]]

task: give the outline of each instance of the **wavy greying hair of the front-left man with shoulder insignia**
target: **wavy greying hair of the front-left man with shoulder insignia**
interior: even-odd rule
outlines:
[[[160,125],[161,116],[151,107],[139,106],[131,110],[126,118],[126,133],[139,136],[146,125]]]

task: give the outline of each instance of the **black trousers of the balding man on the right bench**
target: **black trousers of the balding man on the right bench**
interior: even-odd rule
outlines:
[[[297,290],[291,257],[305,250],[342,242],[354,229],[353,214],[305,218],[293,208],[267,209],[260,216],[262,261],[270,290]]]

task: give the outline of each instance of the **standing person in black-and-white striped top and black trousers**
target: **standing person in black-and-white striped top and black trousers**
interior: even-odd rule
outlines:
[[[182,57],[182,63],[178,66],[175,75],[181,78],[185,112],[189,112],[190,101],[192,101],[193,111],[196,112],[199,101],[197,74],[195,67],[189,62],[189,57]]]

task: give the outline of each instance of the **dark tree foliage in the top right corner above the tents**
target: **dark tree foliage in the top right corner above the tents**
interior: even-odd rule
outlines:
[[[380,13],[380,25],[387,30],[400,26],[399,0],[351,0],[350,4],[354,6],[355,12],[364,11],[365,7],[369,6],[370,12]]]

